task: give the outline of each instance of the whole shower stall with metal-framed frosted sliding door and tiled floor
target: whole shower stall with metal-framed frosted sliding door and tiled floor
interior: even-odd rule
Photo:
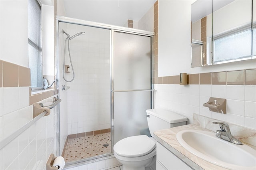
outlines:
[[[66,17],[56,26],[59,153],[66,163],[112,156],[122,138],[150,136],[154,34]]]

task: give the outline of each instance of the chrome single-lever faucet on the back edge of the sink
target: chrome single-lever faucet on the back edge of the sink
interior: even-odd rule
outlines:
[[[234,144],[242,145],[243,143],[236,139],[230,132],[230,128],[225,122],[212,122],[213,124],[219,124],[220,130],[216,130],[216,136]]]

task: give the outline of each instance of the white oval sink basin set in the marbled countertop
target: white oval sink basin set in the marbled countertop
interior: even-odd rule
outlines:
[[[256,150],[246,144],[233,144],[202,130],[182,130],[176,138],[189,152],[212,164],[232,170],[256,170]]]

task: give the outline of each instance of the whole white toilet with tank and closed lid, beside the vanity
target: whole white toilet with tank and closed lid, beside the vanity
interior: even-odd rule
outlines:
[[[186,125],[186,117],[166,109],[146,110],[151,136],[160,129]],[[123,170],[156,170],[156,140],[146,135],[130,136],[114,145],[114,156]]]

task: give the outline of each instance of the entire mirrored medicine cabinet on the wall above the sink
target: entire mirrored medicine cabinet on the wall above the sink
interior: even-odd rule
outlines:
[[[256,0],[191,5],[191,67],[256,58]]]

